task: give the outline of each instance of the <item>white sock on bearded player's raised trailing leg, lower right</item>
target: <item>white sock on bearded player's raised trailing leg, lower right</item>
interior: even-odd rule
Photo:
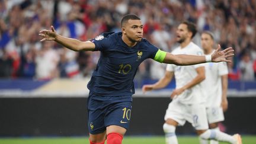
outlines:
[[[236,143],[236,139],[226,133],[220,132],[219,130],[206,130],[206,132],[200,135],[202,139],[214,139],[220,142]]]

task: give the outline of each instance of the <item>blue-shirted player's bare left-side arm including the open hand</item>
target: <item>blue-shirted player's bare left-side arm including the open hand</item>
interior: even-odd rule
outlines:
[[[51,29],[52,30],[41,30],[39,32],[39,36],[43,37],[43,39],[41,39],[40,41],[53,40],[59,44],[62,44],[62,46],[74,51],[89,51],[95,49],[95,44],[91,41],[80,41],[77,39],[63,37],[56,33],[53,26],[51,26]]]

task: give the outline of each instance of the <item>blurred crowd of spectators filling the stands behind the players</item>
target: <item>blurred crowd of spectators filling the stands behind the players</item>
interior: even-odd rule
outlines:
[[[120,31],[125,14],[137,14],[144,37],[171,52],[182,21],[212,31],[222,48],[235,49],[229,79],[256,78],[256,0],[0,0],[1,78],[84,78],[91,76],[99,52],[73,52],[59,44],[39,42],[38,33],[54,25],[58,34],[82,41],[106,31]],[[137,79],[159,79],[165,65],[145,60]]]

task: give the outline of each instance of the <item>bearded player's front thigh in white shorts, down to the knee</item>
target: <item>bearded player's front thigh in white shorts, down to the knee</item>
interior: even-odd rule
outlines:
[[[177,126],[177,123],[178,125],[183,126],[185,124],[184,108],[185,105],[178,101],[169,103],[164,117],[165,122],[174,126]]]

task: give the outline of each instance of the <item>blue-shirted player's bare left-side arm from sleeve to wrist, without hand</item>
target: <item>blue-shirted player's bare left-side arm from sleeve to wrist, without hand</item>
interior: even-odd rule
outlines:
[[[68,37],[63,37],[57,34],[55,41],[62,46],[74,50],[74,51],[81,51],[81,50],[94,50],[92,44],[85,44],[87,42],[82,42],[77,39],[71,39]],[[88,46],[87,46],[88,45]]]

